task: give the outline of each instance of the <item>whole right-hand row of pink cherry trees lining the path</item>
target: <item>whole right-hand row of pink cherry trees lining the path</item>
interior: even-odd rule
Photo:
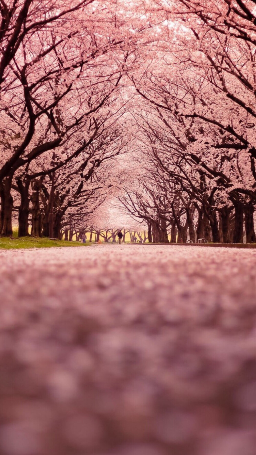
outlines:
[[[155,242],[256,241],[255,2],[156,1],[163,50],[130,75],[139,178],[124,205]],[[166,42],[168,45],[166,46]],[[170,50],[171,42],[171,50]],[[161,65],[159,65],[161,60]]]

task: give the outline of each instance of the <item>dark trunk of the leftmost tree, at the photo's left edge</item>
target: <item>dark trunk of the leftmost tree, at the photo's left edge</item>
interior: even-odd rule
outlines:
[[[1,236],[11,237],[12,236],[12,208],[13,208],[13,197],[10,193],[12,185],[13,175],[5,177],[3,182],[3,189],[1,191]]]

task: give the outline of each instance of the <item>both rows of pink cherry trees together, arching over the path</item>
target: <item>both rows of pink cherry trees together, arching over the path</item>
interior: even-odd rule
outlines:
[[[1,235],[13,213],[19,235],[30,221],[33,235],[84,228],[124,187],[149,241],[256,241],[254,0],[13,0],[0,13]]]

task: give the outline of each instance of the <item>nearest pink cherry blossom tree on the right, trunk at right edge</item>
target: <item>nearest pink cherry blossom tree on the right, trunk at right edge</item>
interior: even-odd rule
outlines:
[[[241,241],[243,214],[246,239],[254,241],[254,4],[203,1],[200,8],[193,1],[154,4],[172,51],[163,56],[167,73],[159,68],[148,71],[147,82],[139,81],[139,86],[137,80],[137,90],[162,113],[168,111],[181,125],[184,123],[189,148],[193,148],[194,157],[197,154],[195,164],[199,160],[202,165],[198,150],[204,147],[208,157],[216,159],[218,152],[220,160],[222,157],[226,165],[230,163],[229,171],[237,168],[235,175],[230,172],[226,176],[224,185],[229,187],[226,193],[235,207],[234,241]],[[148,81],[151,90],[154,86],[154,94]],[[170,83],[176,92],[171,93]],[[210,168],[214,175],[215,169]],[[226,207],[225,212],[228,210]]]

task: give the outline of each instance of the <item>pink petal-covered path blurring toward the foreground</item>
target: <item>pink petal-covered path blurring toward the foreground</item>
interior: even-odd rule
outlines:
[[[256,250],[0,251],[0,455],[256,455]]]

